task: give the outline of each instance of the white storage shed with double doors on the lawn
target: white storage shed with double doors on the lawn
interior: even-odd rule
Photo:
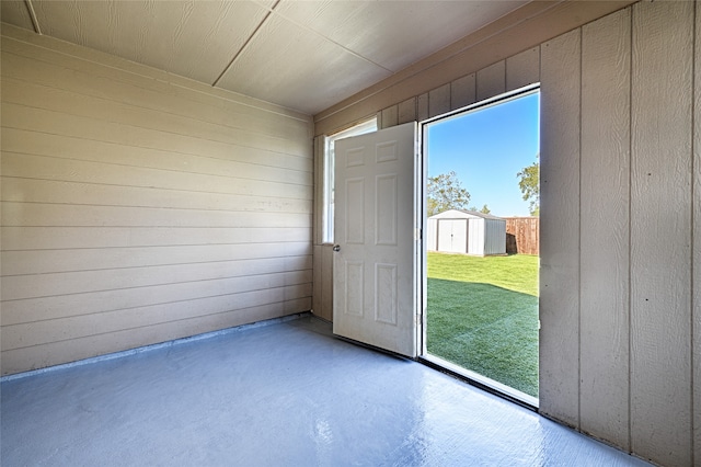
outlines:
[[[506,219],[473,210],[444,210],[428,218],[426,242],[428,251],[506,254]]]

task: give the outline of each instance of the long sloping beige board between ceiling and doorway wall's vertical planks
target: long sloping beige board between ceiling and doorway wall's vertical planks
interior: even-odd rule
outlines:
[[[502,65],[495,65],[498,61],[506,58],[516,59],[524,50],[540,47],[540,44],[545,41],[633,2],[634,0],[529,2],[518,9],[515,12],[517,14],[503,16],[436,54],[314,115],[314,134],[331,134],[349,123],[372,116],[379,110],[411,96],[418,96],[417,119],[425,119],[428,115],[429,90],[438,89],[440,86],[466,78],[476,71],[491,73],[494,70],[487,71],[487,68],[501,67]],[[482,84],[485,82],[483,81]],[[499,84],[489,86],[498,87]],[[426,94],[422,94],[424,92]],[[462,105],[457,105],[455,109]]]

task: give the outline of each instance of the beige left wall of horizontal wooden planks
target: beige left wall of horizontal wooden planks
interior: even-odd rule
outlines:
[[[2,25],[2,374],[311,308],[306,115]]]

